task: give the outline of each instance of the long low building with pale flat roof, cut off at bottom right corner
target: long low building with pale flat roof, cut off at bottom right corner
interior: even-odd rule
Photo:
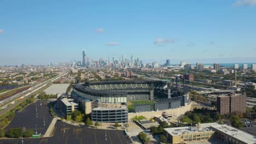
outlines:
[[[245,133],[242,130],[230,127],[229,125],[211,125],[211,129],[215,131],[220,143],[256,143],[256,137]]]

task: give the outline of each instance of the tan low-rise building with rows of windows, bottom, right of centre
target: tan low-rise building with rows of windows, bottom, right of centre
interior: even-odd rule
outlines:
[[[218,123],[198,123],[191,127],[165,128],[164,135],[170,143],[206,142],[214,134],[211,126]]]

